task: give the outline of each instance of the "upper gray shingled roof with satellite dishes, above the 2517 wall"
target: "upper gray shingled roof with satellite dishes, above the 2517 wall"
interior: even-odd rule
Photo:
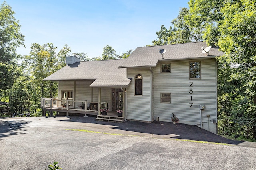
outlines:
[[[224,54],[218,48],[212,47],[209,51],[210,56],[207,56],[206,53],[202,53],[201,47],[203,46],[207,47],[205,42],[138,47],[119,68],[154,67],[158,61],[162,60],[202,59]],[[162,59],[159,49],[166,49],[166,53],[163,54],[164,59]]]

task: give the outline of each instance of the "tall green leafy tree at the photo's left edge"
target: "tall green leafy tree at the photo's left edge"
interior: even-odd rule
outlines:
[[[18,76],[16,48],[24,46],[15,12],[4,2],[0,6],[0,90],[9,89]]]

